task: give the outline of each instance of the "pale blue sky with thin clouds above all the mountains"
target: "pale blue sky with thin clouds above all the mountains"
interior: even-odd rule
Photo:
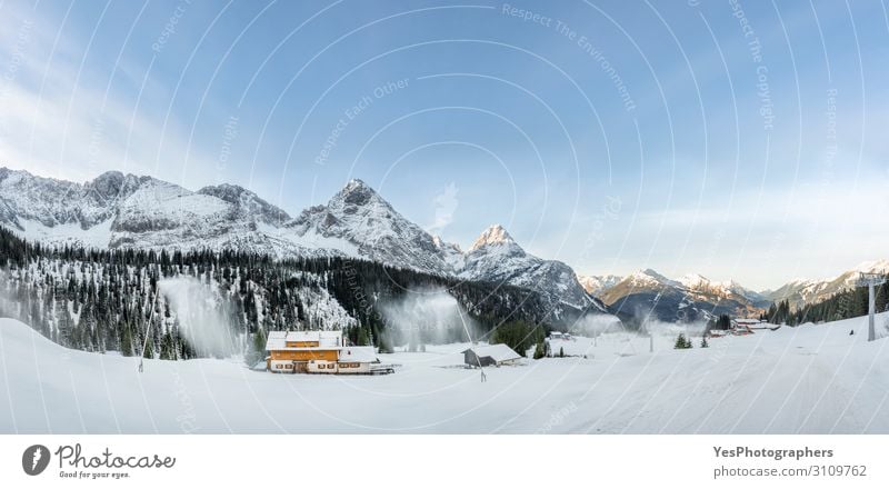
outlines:
[[[851,3],[0,0],[0,164],[291,214],[361,178],[463,247],[777,287],[887,257],[889,20]]]

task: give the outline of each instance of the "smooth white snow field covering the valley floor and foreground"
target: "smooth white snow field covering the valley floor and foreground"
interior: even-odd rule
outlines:
[[[465,345],[380,356],[402,366],[381,377],[226,360],[147,361],[139,373],[137,359],[67,350],[1,319],[0,432],[889,433],[889,338],[868,343],[866,328],[858,318],[692,350],[665,336],[653,355],[623,335],[555,341],[581,356],[488,368],[482,383],[450,368]]]

